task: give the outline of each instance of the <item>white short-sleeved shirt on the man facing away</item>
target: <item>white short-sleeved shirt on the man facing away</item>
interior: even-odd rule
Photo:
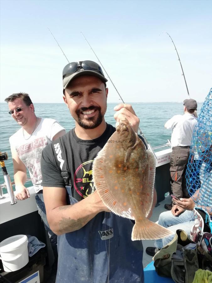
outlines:
[[[165,124],[165,128],[172,129],[171,146],[190,146],[193,130],[196,124],[197,119],[190,113],[175,115],[169,119]]]

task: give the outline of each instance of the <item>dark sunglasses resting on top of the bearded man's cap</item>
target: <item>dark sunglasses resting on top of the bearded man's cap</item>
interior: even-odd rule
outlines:
[[[81,69],[90,70],[99,73],[104,77],[101,67],[93,61],[79,61],[67,64],[63,69],[63,79],[69,75],[79,72]]]

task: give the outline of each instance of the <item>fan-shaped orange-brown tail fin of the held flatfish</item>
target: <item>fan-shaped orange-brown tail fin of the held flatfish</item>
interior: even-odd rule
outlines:
[[[132,231],[132,241],[156,240],[174,235],[174,233],[159,224],[146,218],[142,221],[135,221]]]

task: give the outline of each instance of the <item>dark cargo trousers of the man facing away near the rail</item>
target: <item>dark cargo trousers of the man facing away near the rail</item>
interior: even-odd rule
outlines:
[[[170,161],[171,191],[178,198],[189,198],[186,187],[186,168],[189,158],[189,148],[172,149]],[[174,202],[174,199],[172,199]]]

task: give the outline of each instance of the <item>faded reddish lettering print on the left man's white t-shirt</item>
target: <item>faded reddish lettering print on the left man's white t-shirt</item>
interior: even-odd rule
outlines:
[[[42,136],[20,147],[16,147],[18,156],[29,170],[34,185],[40,185],[42,182],[41,153],[47,143],[46,137]]]

